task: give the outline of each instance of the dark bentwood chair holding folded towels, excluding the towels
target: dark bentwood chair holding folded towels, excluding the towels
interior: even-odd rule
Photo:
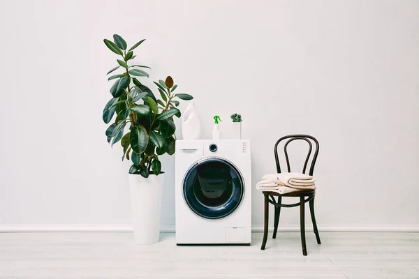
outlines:
[[[318,155],[318,141],[311,135],[286,135],[285,137],[281,137],[277,141],[274,147],[275,162],[277,163],[277,172],[279,174],[281,173],[281,167],[279,166],[278,144],[283,140],[288,140],[284,145],[284,153],[285,153],[285,159],[286,159],[288,172],[291,172],[290,161],[288,159],[288,152],[286,149],[288,144],[290,142],[293,142],[294,140],[304,140],[309,144],[309,152],[304,162],[304,167],[302,168],[303,174],[306,174],[307,163],[309,162],[309,158],[311,157],[312,151],[313,151],[313,144],[311,142],[314,142],[315,149],[314,149],[314,154],[312,156],[311,165],[309,169],[309,175],[313,175],[314,165],[316,164],[316,159]],[[306,241],[305,241],[305,228],[304,228],[304,204],[306,202],[309,202],[310,212],[311,212],[311,221],[313,221],[313,227],[314,227],[314,234],[316,234],[317,243],[321,244],[320,236],[318,235],[316,217],[314,216],[314,196],[316,195],[316,190],[305,190],[301,192],[293,192],[293,193],[288,193],[284,195],[281,195],[276,192],[263,192],[263,195],[265,195],[265,224],[264,224],[264,229],[263,229],[262,247],[260,248],[261,250],[265,250],[266,241],[267,241],[267,222],[269,220],[269,204],[273,204],[275,206],[274,235],[272,236],[272,239],[277,237],[279,213],[281,213],[281,207],[300,206],[300,231],[301,231],[302,255],[307,256],[307,247],[306,247]],[[277,197],[277,199],[275,199],[274,197]],[[297,202],[295,204],[281,204],[282,197],[300,197],[300,202]],[[307,199],[305,197],[307,197]]]

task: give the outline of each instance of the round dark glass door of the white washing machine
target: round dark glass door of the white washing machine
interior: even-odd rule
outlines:
[[[186,172],[183,195],[189,209],[206,219],[232,214],[242,202],[244,180],[240,171],[223,158],[204,158]]]

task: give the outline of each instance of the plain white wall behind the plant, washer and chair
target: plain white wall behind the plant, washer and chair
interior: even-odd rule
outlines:
[[[419,229],[418,1],[1,1],[0,31],[3,228],[130,223],[128,163],[101,120],[116,58],[103,38],[119,33],[147,38],[135,60],[150,85],[172,75],[195,97],[204,137],[214,114],[225,135],[242,114],[253,183],[277,138],[316,136],[320,227]],[[262,202],[254,191],[255,226]]]

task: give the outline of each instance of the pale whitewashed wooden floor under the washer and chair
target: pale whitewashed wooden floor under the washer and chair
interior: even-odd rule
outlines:
[[[179,246],[162,233],[137,246],[130,233],[0,233],[0,278],[419,278],[418,233],[279,232],[249,246]],[[263,276],[263,277],[262,277]]]

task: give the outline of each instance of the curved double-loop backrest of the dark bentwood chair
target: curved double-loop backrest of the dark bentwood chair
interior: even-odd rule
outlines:
[[[290,142],[293,142],[294,140],[304,140],[305,142],[309,144],[309,152],[307,154],[307,158],[304,161],[304,167],[302,168],[303,174],[306,173],[307,163],[309,163],[309,158],[311,157],[312,152],[313,152],[313,144],[311,142],[314,142],[315,149],[314,149],[314,154],[312,156],[311,165],[309,169],[309,175],[313,175],[314,165],[316,165],[319,146],[318,146],[318,141],[316,140],[316,138],[312,137],[311,135],[286,135],[285,137],[281,137],[277,141],[277,143],[275,143],[274,153],[275,153],[275,163],[277,163],[277,172],[281,173],[281,166],[279,165],[279,158],[278,158],[278,144],[282,142],[283,140],[287,140],[287,139],[288,141],[284,144],[284,153],[285,153],[286,166],[287,166],[288,172],[291,172],[290,160],[288,158],[288,151],[287,151],[288,144]]]

